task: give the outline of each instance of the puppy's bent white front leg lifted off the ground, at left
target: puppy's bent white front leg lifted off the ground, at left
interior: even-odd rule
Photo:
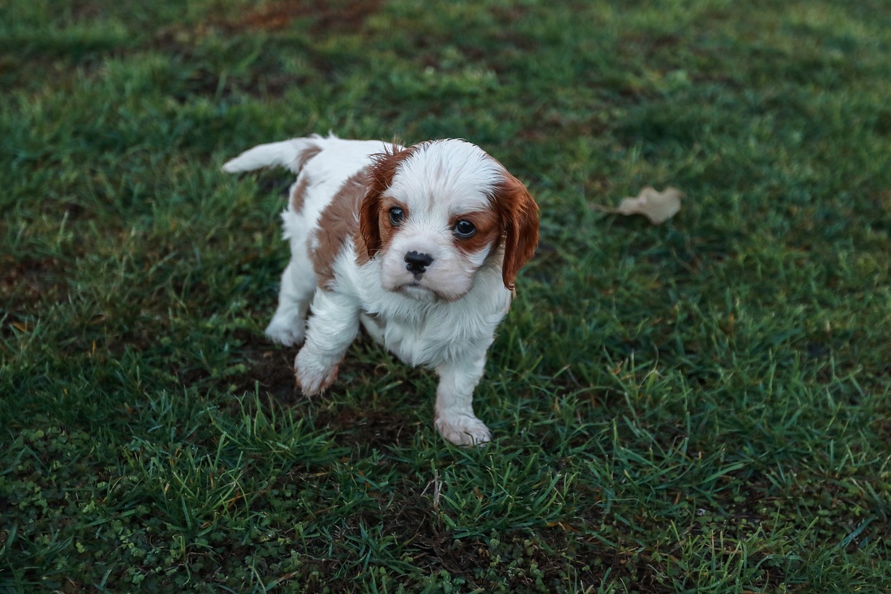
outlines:
[[[324,392],[359,329],[359,306],[354,297],[319,289],[307,320],[307,342],[294,360],[297,384],[307,396]]]

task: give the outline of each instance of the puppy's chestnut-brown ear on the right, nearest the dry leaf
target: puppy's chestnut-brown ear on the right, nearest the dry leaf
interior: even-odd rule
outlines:
[[[538,205],[523,182],[506,170],[493,198],[504,228],[502,280],[512,290],[519,269],[532,258],[538,245]]]

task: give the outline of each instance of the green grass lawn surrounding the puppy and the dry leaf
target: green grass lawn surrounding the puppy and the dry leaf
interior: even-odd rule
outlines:
[[[59,4],[0,7],[0,591],[891,583],[884,0]],[[290,179],[219,166],[329,129],[541,205],[485,449],[262,335]]]

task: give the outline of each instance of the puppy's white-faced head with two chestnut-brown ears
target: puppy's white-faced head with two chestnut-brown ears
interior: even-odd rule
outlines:
[[[429,141],[377,156],[359,240],[360,251],[380,259],[387,291],[455,301],[484,266],[500,266],[504,286],[513,288],[538,243],[538,206],[478,146]]]

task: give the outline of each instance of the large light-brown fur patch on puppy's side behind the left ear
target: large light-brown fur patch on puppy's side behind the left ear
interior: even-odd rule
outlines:
[[[320,286],[331,287],[334,282],[334,260],[337,260],[347,239],[359,235],[358,212],[365,195],[366,179],[364,170],[347,178],[319,217],[319,225],[310,243],[315,244],[315,248],[310,255]]]

